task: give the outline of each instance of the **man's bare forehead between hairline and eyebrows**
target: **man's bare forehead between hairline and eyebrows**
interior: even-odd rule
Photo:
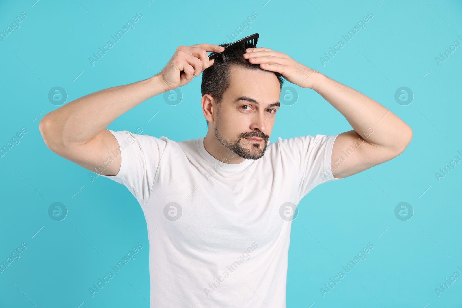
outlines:
[[[230,86],[226,94],[231,97],[248,95],[261,100],[278,101],[280,96],[279,80],[273,72],[231,66]]]

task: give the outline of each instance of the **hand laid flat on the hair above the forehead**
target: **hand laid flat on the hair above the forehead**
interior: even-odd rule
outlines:
[[[244,59],[248,59],[250,63],[260,64],[267,71],[279,72],[287,81],[302,88],[312,89],[315,78],[320,73],[269,48],[248,48],[245,51]]]

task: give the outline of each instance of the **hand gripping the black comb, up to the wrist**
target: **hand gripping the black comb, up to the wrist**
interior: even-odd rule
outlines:
[[[206,68],[212,66],[214,59],[208,60],[207,52],[222,52],[224,47],[212,44],[197,44],[192,46],[179,46],[167,65],[156,77],[164,84],[165,91],[186,85],[197,77]],[[180,75],[180,72],[184,71]]]

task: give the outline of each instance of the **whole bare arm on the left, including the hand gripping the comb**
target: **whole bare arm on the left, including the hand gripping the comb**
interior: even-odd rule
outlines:
[[[188,84],[214,63],[207,51],[224,49],[205,43],[179,46],[157,75],[88,94],[45,115],[39,124],[43,141],[50,150],[85,169],[117,175],[122,162],[120,155],[103,170],[97,169],[110,153],[120,151],[116,137],[106,127],[146,99]]]

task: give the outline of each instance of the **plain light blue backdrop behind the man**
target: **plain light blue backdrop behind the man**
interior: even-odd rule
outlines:
[[[286,53],[364,93],[413,129],[399,157],[316,187],[301,201],[292,223],[287,307],[461,307],[462,278],[440,297],[435,292],[445,278],[462,274],[457,269],[462,267],[462,163],[441,181],[435,176],[455,156],[462,158],[457,153],[462,151],[462,47],[440,66],[435,60],[454,41],[462,43],[460,1],[0,3],[0,30],[27,13],[20,28],[0,42],[0,146],[21,127],[27,129],[0,158],[0,261],[21,243],[28,245],[0,273],[0,307],[149,307],[149,244],[140,205],[125,187],[103,177],[92,181],[88,170],[46,147],[38,123],[58,108],[48,92],[63,87],[69,103],[149,78],[179,45],[230,42],[226,36],[252,12],[258,17],[239,38],[259,33],[259,47]],[[136,28],[91,66],[88,58],[136,12],[143,14]],[[368,12],[374,17],[367,27],[322,66],[319,58]],[[182,87],[184,97],[176,106],[163,95],[152,97],[108,128],[140,127],[143,134],[176,141],[205,136],[200,85],[197,77]],[[352,129],[315,91],[285,85],[296,88],[299,98],[278,112],[272,142]],[[401,86],[414,93],[407,106],[394,98]],[[404,201],[415,211],[408,221],[394,214]],[[67,206],[60,222],[48,216],[53,202]],[[91,297],[88,289],[138,242],[143,248],[136,259]],[[369,242],[374,248],[367,259],[323,297],[319,289]]]

